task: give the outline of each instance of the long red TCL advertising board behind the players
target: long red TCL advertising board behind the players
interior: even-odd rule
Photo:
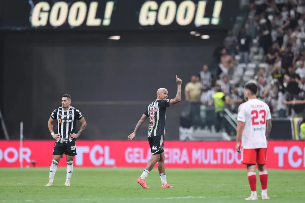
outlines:
[[[0,141],[0,167],[49,167],[53,141]],[[76,142],[77,167],[145,167],[151,157],[146,141],[82,141]],[[235,142],[166,141],[164,147],[167,168],[245,168]],[[65,156],[58,166],[66,167]],[[305,141],[269,141],[269,169],[305,169]]]

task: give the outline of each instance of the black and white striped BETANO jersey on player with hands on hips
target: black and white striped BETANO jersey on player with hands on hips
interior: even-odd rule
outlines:
[[[68,143],[74,141],[69,139],[69,135],[75,131],[76,121],[83,117],[81,112],[74,107],[70,107],[68,110],[63,110],[63,107],[55,109],[52,114],[52,119],[57,119],[57,129],[60,135],[60,140],[56,142]]]

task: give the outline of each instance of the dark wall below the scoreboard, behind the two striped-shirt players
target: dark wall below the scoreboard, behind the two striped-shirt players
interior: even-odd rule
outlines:
[[[5,33],[2,101],[10,138],[19,137],[20,121],[26,139],[51,138],[47,121],[68,93],[88,123],[82,139],[126,139],[158,88],[174,98],[175,75],[184,92],[191,75],[210,63],[226,31],[209,34],[203,40],[189,32],[125,32],[109,40],[99,33]],[[179,139],[184,107],[168,108],[167,140]],[[147,138],[147,127],[138,139]]]

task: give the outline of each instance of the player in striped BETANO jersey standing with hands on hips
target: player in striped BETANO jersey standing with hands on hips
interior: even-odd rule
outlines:
[[[65,186],[70,186],[70,179],[73,173],[73,159],[76,155],[76,142],[75,139],[81,135],[81,132],[87,126],[85,118],[81,114],[81,112],[74,107],[71,107],[71,96],[68,94],[63,95],[62,100],[62,107],[58,107],[55,109],[51,117],[48,121],[48,128],[49,131],[56,142],[53,146],[53,160],[50,166],[50,173],[49,173],[49,182],[45,185],[45,187],[49,187],[53,185],[54,176],[57,170],[57,164],[59,160],[63,157],[63,154],[66,154],[66,161],[67,161],[67,176],[66,176],[66,183]],[[54,133],[53,130],[53,122],[57,120],[57,128],[58,134]],[[81,128],[74,134],[76,121],[81,122]]]

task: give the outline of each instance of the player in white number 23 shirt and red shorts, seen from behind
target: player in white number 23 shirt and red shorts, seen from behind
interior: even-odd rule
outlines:
[[[266,170],[267,139],[271,131],[271,112],[269,106],[256,98],[257,85],[249,82],[245,85],[245,103],[238,108],[236,150],[241,152],[241,161],[247,165],[251,196],[246,200],[257,200],[256,173],[257,164],[262,199],[267,196],[268,174]],[[242,142],[242,146],[240,144]],[[242,150],[240,150],[242,147]]]

